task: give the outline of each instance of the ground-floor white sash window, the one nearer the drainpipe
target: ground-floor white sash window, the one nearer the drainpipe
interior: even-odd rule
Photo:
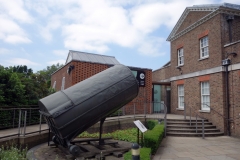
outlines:
[[[210,88],[209,82],[201,82],[201,104],[202,110],[210,110]]]

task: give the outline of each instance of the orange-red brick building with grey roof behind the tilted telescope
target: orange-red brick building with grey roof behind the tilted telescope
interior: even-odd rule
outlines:
[[[65,65],[54,72],[51,76],[51,86],[56,90],[64,90],[81,82],[113,65],[120,64],[115,57],[78,52],[70,50]],[[133,106],[136,114],[152,112],[152,70],[146,68],[129,67],[133,74],[138,77],[145,74],[145,83],[140,84],[138,96],[124,107],[125,114],[133,114]],[[137,78],[138,79],[138,78]]]

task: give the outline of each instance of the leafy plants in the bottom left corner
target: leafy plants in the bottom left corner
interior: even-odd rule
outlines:
[[[1,160],[27,160],[26,158],[27,148],[18,149],[16,146],[2,146],[0,148],[0,159]]]

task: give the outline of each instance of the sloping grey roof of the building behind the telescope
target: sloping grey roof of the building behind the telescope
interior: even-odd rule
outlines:
[[[112,56],[69,50],[68,57],[65,64],[73,60],[80,61],[80,62],[107,64],[107,65],[120,64],[116,60],[116,58]]]

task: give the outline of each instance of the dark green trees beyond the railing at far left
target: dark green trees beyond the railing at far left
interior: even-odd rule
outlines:
[[[55,92],[50,88],[51,74],[62,65],[47,66],[33,73],[26,65],[0,65],[0,106],[37,105],[39,99]]]

